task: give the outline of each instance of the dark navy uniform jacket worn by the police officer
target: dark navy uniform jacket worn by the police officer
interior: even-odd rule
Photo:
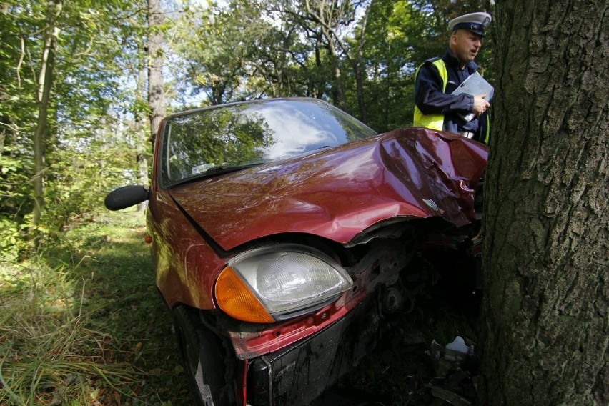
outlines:
[[[487,113],[475,116],[470,122],[466,122],[459,114],[465,115],[473,112],[474,96],[460,94],[452,96],[452,91],[463,83],[467,77],[477,71],[478,66],[474,61],[460,68],[460,63],[452,54],[450,49],[442,55],[442,61],[448,73],[448,83],[445,91],[442,91],[442,77],[440,72],[432,64],[433,59],[425,61],[417,74],[415,83],[415,104],[423,114],[443,114],[443,130],[460,134],[462,132],[474,133],[473,139],[485,142],[487,133]]]

